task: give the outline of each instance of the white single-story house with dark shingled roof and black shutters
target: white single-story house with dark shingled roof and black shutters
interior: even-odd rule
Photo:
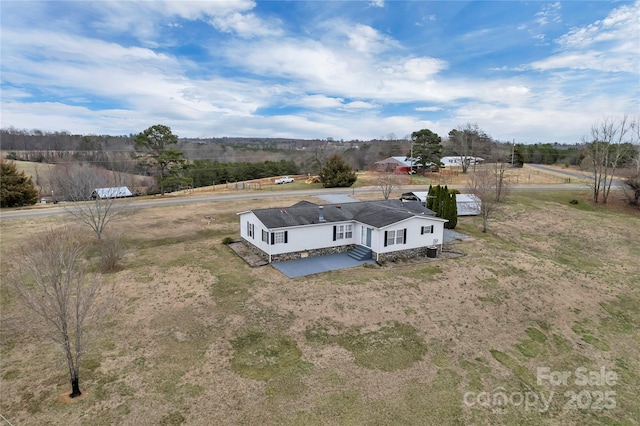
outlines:
[[[376,261],[424,256],[442,246],[446,219],[420,202],[383,200],[249,210],[240,236],[270,263],[356,250]]]

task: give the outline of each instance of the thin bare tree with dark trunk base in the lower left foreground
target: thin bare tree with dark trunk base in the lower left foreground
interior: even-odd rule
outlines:
[[[50,229],[19,250],[13,263],[10,288],[62,348],[71,379],[70,396],[80,396],[85,324],[98,313],[94,302],[101,288],[100,278],[87,274],[85,245],[71,228]]]

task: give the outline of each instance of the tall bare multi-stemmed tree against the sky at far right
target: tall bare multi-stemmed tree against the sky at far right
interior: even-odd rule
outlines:
[[[635,154],[633,146],[636,120],[626,115],[606,117],[591,127],[591,142],[585,144],[585,161],[593,173],[593,202],[607,203],[616,170]],[[583,138],[583,142],[586,142]]]

